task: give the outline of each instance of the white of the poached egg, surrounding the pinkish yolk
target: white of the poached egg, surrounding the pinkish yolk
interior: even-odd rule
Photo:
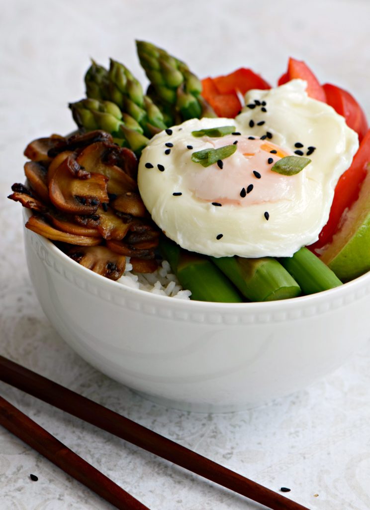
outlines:
[[[330,106],[308,97],[305,88],[306,82],[293,80],[275,89],[251,90],[245,104],[260,104],[246,106],[235,119],[191,119],[172,127],[171,134],[163,131],[153,137],[140,157],[138,187],[153,220],[167,237],[185,249],[214,257],[253,258],[291,257],[318,239],[329,217],[335,185],[357,151],[358,136]],[[258,126],[261,120],[265,122]],[[304,154],[308,146],[316,147],[308,156],[311,163],[287,177],[296,180],[292,196],[248,207],[226,203],[215,207],[188,189],[186,176],[203,169],[191,161],[192,153],[212,147],[206,138],[196,138],[191,132],[225,125],[233,125],[247,136],[271,133],[271,142],[291,152],[297,142],[303,144]],[[168,142],[173,147],[165,154]],[[237,155],[230,159],[233,157]],[[148,163],[153,168],[147,168]]]

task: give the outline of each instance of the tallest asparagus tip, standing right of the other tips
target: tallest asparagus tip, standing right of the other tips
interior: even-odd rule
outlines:
[[[172,124],[193,117],[216,117],[211,107],[201,98],[202,84],[188,66],[169,55],[164,49],[146,41],[136,41],[140,64],[151,82],[148,93],[158,97],[163,105],[171,106]],[[152,95],[153,90],[155,96]],[[157,103],[159,107],[161,105]],[[168,115],[168,109],[165,112]]]

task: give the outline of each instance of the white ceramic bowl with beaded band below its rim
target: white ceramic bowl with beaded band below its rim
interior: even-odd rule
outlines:
[[[235,411],[292,393],[369,335],[370,273],[295,299],[208,303],[124,287],[27,229],[25,250],[37,297],[64,340],[113,379],[178,409]]]

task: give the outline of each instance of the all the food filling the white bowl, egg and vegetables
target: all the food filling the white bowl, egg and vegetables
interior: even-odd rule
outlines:
[[[196,300],[296,297],[370,269],[357,200],[370,135],[349,93],[294,59],[272,89],[248,69],[201,83],[154,45],[138,53],[146,95],[122,64],[93,63],[87,99],[70,105],[82,133],[27,147],[32,189],[11,197],[35,211],[28,228],[115,280],[156,271],[159,247],[171,287]]]

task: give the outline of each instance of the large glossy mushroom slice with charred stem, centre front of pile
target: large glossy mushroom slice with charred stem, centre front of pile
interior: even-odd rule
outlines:
[[[63,212],[93,214],[100,203],[108,201],[107,177],[100,173],[86,172],[90,177],[78,179],[72,175],[75,163],[72,154],[53,171],[49,181],[50,199],[53,205]],[[78,164],[77,166],[79,167]],[[78,174],[77,171],[75,173]]]

